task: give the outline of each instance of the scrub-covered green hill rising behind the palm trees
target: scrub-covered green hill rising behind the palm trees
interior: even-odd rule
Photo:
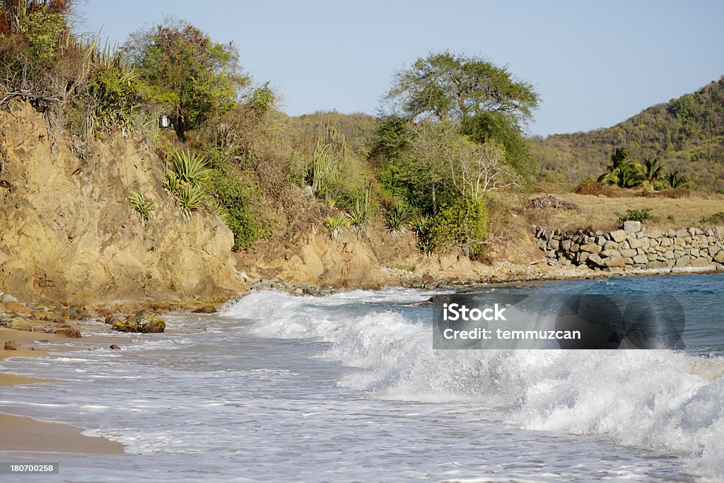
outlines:
[[[615,148],[637,159],[658,158],[694,188],[724,193],[724,77],[613,127],[533,138],[539,179],[553,182],[577,184],[599,175]]]

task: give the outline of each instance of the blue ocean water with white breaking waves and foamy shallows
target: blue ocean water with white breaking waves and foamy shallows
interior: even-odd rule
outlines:
[[[718,301],[724,276],[478,288]],[[163,335],[112,335],[123,350],[75,340],[59,358],[6,360],[2,371],[62,381],[3,388],[1,411],[75,424],[126,454],[0,461],[60,462],[24,482],[724,481],[719,314],[689,324],[677,352],[432,350],[423,302],[437,293],[258,292],[172,314]]]

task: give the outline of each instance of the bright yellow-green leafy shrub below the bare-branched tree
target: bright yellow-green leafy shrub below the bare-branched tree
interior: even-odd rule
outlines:
[[[488,239],[488,212],[481,199],[459,198],[444,206],[429,230],[434,250],[457,247],[472,258],[483,253]]]

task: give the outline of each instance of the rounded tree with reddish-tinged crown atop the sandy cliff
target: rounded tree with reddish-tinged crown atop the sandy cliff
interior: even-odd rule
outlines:
[[[153,101],[169,110],[180,140],[188,130],[237,103],[248,83],[232,43],[216,43],[188,22],[167,19],[133,33],[125,44]]]

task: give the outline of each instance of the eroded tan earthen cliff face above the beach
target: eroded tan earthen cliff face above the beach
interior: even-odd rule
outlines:
[[[185,219],[146,143],[105,136],[82,159],[18,101],[0,112],[0,289],[26,299],[211,298],[243,290],[233,235]],[[156,205],[144,222],[128,196]]]

